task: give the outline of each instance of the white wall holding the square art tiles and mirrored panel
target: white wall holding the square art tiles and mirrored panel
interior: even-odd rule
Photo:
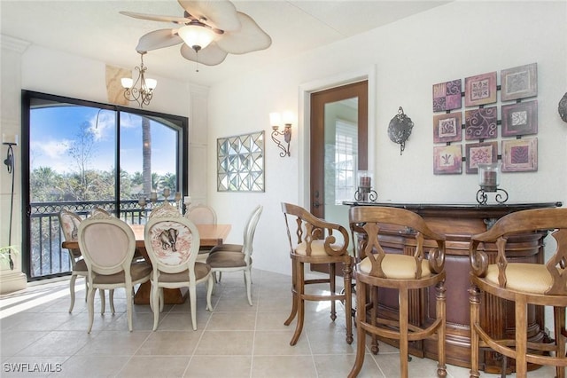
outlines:
[[[273,111],[299,111],[299,89],[376,67],[375,178],[379,200],[476,203],[476,175],[433,175],[431,87],[435,83],[538,64],[539,167],[537,172],[506,173],[501,187],[509,202],[565,201],[567,124],[557,104],[567,90],[567,6],[562,2],[455,2],[340,43],[324,46],[258,67],[252,75],[235,75],[209,93],[209,146],[216,138],[266,130]],[[260,85],[261,83],[261,85]],[[500,82],[499,82],[500,83]],[[399,106],[415,122],[406,150],[387,136]],[[303,120],[304,114],[298,119]],[[303,202],[301,178],[308,168],[307,142],[294,125],[291,158],[280,158],[267,140],[266,192],[217,193],[209,177],[210,203],[220,222],[234,224],[229,239],[241,239],[245,215],[256,203],[264,205],[254,248],[254,265],[290,272],[281,201]],[[299,137],[301,138],[301,137]],[[500,152],[499,152],[500,153]],[[214,148],[208,165],[214,169]],[[463,167],[464,172],[464,167]],[[308,185],[308,183],[305,183]]]

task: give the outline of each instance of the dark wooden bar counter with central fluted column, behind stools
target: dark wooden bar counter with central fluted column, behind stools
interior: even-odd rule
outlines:
[[[386,206],[408,209],[425,219],[431,230],[447,236],[445,269],[447,272],[447,363],[470,367],[470,314],[469,314],[469,241],[470,236],[485,232],[497,219],[511,212],[524,209],[561,207],[561,202],[523,204],[423,204],[393,202],[344,202],[348,206]],[[409,237],[408,237],[409,236]],[[538,262],[543,264],[543,238],[545,232],[517,235],[509,241],[514,249],[515,262]],[[384,234],[384,240],[392,250],[413,254],[415,240],[408,230],[392,229]],[[433,247],[433,246],[431,246]],[[427,248],[425,248],[427,250]],[[480,248],[479,248],[480,249]],[[497,249],[485,245],[491,263]],[[398,318],[398,294],[391,289],[380,289],[380,311],[386,317]],[[419,325],[431,323],[435,315],[435,292],[416,292],[410,302],[409,321]],[[514,338],[515,319],[513,303],[494,297],[483,297],[481,321],[491,325],[494,335],[509,335]],[[528,319],[528,340],[540,341],[545,335],[544,311],[540,306],[531,306]],[[387,342],[384,340],[383,342]],[[392,343],[392,342],[390,342]],[[395,345],[395,343],[394,343]],[[410,343],[410,353],[437,359],[437,346],[430,341]],[[514,363],[509,361],[509,373]],[[501,356],[493,351],[480,353],[480,366],[486,373],[501,372]],[[484,367],[483,367],[484,366]],[[535,366],[532,366],[532,368]]]

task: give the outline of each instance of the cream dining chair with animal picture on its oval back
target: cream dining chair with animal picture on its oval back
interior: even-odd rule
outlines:
[[[200,244],[197,227],[175,207],[166,205],[145,225],[144,244],[153,267],[150,299],[153,330],[158,328],[159,312],[163,311],[164,287],[189,287],[191,324],[197,330],[197,285],[207,284],[208,311],[213,311],[214,285],[211,266],[196,261]]]

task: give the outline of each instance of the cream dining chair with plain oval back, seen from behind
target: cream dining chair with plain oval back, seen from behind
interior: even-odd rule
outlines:
[[[79,224],[79,248],[87,264],[89,287],[87,303],[89,308],[90,333],[94,320],[94,296],[97,289],[124,287],[128,329],[132,331],[132,293],[138,284],[150,280],[151,265],[145,262],[133,263],[136,237],[128,224],[119,218],[98,213]]]

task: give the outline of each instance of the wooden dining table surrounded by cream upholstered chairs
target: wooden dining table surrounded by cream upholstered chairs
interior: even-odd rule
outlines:
[[[221,245],[223,240],[229,235],[230,224],[195,224],[198,229],[198,235],[201,247],[211,247]],[[134,236],[136,237],[136,249],[144,256],[145,261],[151,264],[148,253],[145,249],[144,242],[144,224],[130,224]],[[79,249],[79,242],[76,240],[64,241],[61,243],[62,248]],[[134,295],[134,303],[136,304],[149,304],[150,303],[150,281],[144,282],[136,290]],[[180,304],[184,303],[187,297],[187,288],[164,288],[164,303],[167,304]]]

